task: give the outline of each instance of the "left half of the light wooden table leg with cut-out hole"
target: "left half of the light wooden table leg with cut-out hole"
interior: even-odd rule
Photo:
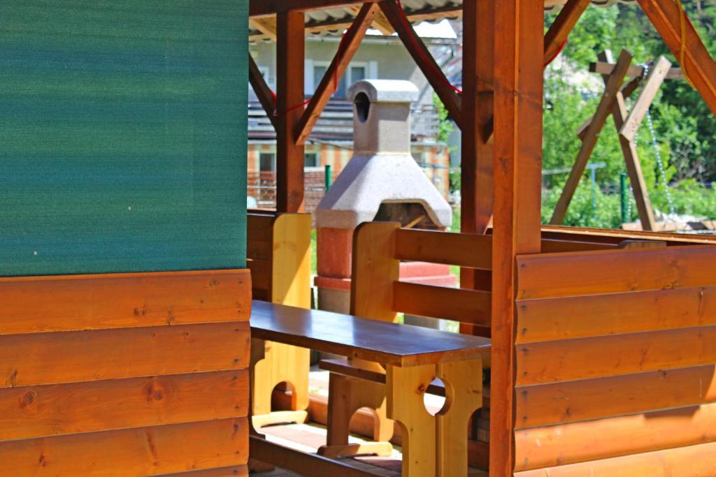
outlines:
[[[387,367],[387,414],[402,430],[403,477],[435,476],[435,418],[423,402],[435,375],[435,365]]]

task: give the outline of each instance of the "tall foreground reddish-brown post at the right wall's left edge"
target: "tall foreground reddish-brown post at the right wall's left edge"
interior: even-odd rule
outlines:
[[[490,476],[512,476],[515,445],[516,256],[540,252],[543,2],[495,8]]]

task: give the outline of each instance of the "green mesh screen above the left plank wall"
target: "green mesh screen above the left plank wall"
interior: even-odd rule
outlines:
[[[0,275],[245,266],[247,16],[0,2]]]

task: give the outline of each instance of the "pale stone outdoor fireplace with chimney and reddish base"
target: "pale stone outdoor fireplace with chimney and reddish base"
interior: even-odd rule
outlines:
[[[410,106],[418,89],[407,81],[365,80],[352,85],[354,155],[316,209],[319,308],[349,312],[352,235],[362,222],[400,222],[444,229],[450,205],[410,153]],[[403,280],[454,285],[447,265],[406,262]]]

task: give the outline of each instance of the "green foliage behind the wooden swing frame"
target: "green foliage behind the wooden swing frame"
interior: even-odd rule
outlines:
[[[707,49],[716,56],[716,2],[686,2],[684,6],[700,31]],[[555,15],[546,16],[546,27]],[[677,59],[670,54],[649,19],[637,5],[619,4],[611,8],[586,10],[569,37],[562,61],[548,67],[545,75],[543,170],[543,220],[551,217],[561,194],[567,172],[574,164],[581,142],[576,131],[596,110],[604,86],[594,74],[589,80],[584,74],[590,62],[596,61],[599,51],[611,49],[614,56],[626,48],[634,54],[634,63],[667,56],[674,67]],[[585,78],[581,82],[576,78]],[[638,92],[637,92],[638,94]],[[637,97],[634,94],[634,98]],[[627,106],[631,107],[628,101]],[[707,105],[687,82],[664,82],[651,107],[657,148],[665,164],[665,176],[670,184],[674,211],[697,217],[716,217],[716,192],[697,181],[716,180],[716,120]],[[637,151],[642,163],[644,179],[654,208],[669,212],[667,192],[659,172],[657,154],[649,134],[647,119],[639,129]],[[619,227],[619,174],[625,170],[619,139],[611,119],[607,120],[599,137],[591,162],[606,164],[596,177],[596,210],[588,174],[584,174],[571,202],[565,223],[588,227]],[[609,193],[607,193],[609,192]],[[633,203],[633,198],[630,199]],[[636,220],[632,207],[631,220]]]

